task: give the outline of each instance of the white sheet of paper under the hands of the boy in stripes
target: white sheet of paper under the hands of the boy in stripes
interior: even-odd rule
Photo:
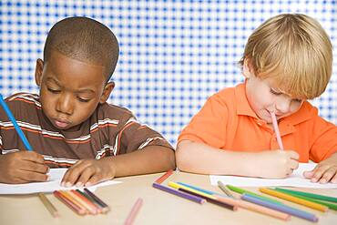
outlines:
[[[0,183],[0,194],[32,194],[38,192],[53,192],[60,189],[79,189],[76,186],[71,188],[61,187],[60,182],[66,173],[66,169],[50,169],[50,180],[46,182],[33,182],[27,184],[4,184]],[[113,185],[120,181],[108,180],[89,187],[91,191],[95,191],[97,187]]]

